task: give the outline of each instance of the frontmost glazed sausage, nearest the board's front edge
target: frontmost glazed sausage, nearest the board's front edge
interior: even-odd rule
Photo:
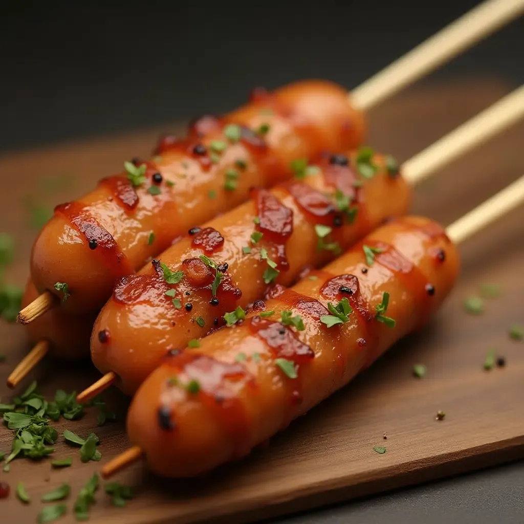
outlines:
[[[380,250],[371,265],[363,245]],[[280,289],[242,323],[166,356],[129,408],[130,442],[152,471],[170,477],[249,453],[422,325],[450,292],[458,264],[454,245],[428,219],[378,228],[313,271],[316,279]]]

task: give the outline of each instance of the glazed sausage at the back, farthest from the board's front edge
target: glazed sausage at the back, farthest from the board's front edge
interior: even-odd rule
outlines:
[[[101,180],[82,199],[57,206],[31,255],[39,292],[69,286],[61,308],[100,310],[118,278],[132,274],[194,223],[233,208],[251,185],[289,178],[289,164],[362,143],[364,118],[335,84],[306,81],[222,119],[194,122],[187,139],[165,137],[150,161]]]

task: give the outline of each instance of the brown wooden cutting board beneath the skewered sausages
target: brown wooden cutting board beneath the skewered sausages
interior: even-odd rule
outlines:
[[[509,86],[486,79],[410,90],[370,115],[370,143],[405,160],[509,91]],[[0,159],[0,230],[17,239],[18,262],[8,270],[8,279],[23,283],[28,271],[35,231],[27,226],[27,199],[52,205],[79,196],[96,179],[118,170],[124,159],[147,156],[159,132],[150,129]],[[523,138],[524,126],[516,126],[423,183],[414,211],[447,224],[515,180],[524,173]],[[50,189],[49,177],[62,177],[58,189]],[[206,478],[184,482],[155,478],[136,464],[117,477],[135,487],[135,499],[124,509],[114,508],[101,489],[91,521],[252,521],[524,456],[524,343],[508,337],[510,324],[524,324],[523,233],[521,208],[463,245],[459,285],[427,328],[392,348],[266,449]],[[486,300],[484,315],[467,315],[463,300],[483,283],[497,283],[503,293]],[[507,364],[486,372],[484,356],[492,348]],[[8,372],[26,350],[23,328],[0,325],[0,354],[7,356],[0,364],[3,401],[10,395]],[[428,366],[425,378],[412,376],[415,363]],[[26,384],[37,379],[40,390],[52,397],[57,388],[80,390],[95,377],[89,363],[47,361]],[[22,505],[14,494],[0,501],[3,522],[36,521],[41,494],[62,482],[71,483],[72,495],[68,515],[60,522],[74,521],[71,509],[80,487],[128,445],[127,401],[117,391],[106,397],[116,407],[118,422],[96,428],[91,408],[81,421],[56,424],[60,433],[68,428],[86,436],[94,430],[101,439],[102,462],[82,464],[78,449],[61,438],[54,455],[73,456],[70,468],[54,471],[49,461],[13,461],[9,473],[0,470],[0,479],[13,492],[24,481],[32,502]],[[443,421],[435,420],[438,410],[446,412]],[[0,451],[10,449],[11,439],[12,433],[0,428]],[[378,454],[374,446],[387,451]]]

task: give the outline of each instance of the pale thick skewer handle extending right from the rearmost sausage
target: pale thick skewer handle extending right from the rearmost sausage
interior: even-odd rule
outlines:
[[[352,104],[368,110],[522,13],[523,0],[486,0],[359,85]]]

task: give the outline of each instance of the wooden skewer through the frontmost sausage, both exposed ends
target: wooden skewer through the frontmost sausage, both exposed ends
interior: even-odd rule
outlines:
[[[455,244],[460,244],[522,203],[524,203],[524,176],[447,226],[447,236]],[[141,447],[130,447],[102,468],[102,476],[104,478],[113,476],[143,455],[144,450]]]

